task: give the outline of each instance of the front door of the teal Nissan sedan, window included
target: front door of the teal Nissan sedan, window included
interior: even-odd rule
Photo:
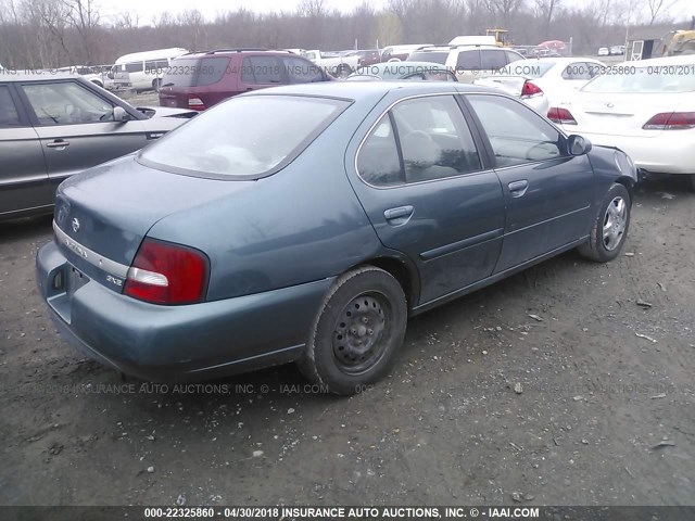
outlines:
[[[569,155],[565,136],[520,101],[466,99],[486,134],[507,206],[495,274],[585,237],[594,185],[589,157]]]

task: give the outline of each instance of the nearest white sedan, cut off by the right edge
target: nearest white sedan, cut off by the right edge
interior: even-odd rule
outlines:
[[[547,116],[569,134],[621,149],[642,173],[687,175],[695,191],[695,55],[610,67]]]

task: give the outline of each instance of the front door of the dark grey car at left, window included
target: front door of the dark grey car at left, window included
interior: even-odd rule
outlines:
[[[141,120],[115,122],[114,104],[80,81],[40,81],[21,88],[34,112],[53,192],[66,177],[149,142]]]

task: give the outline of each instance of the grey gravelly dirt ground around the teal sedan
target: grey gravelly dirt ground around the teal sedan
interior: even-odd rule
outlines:
[[[50,217],[0,225],[0,504],[693,505],[694,231],[695,194],[648,183],[616,262],[417,317],[391,376],[339,398],[292,366],[122,381],[38,296]]]

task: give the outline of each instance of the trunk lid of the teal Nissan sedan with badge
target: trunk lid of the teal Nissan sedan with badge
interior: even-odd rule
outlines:
[[[130,266],[160,219],[253,185],[172,174],[140,165],[135,155],[122,157],[59,187],[56,242],[71,264],[87,275],[123,278],[124,267]]]

